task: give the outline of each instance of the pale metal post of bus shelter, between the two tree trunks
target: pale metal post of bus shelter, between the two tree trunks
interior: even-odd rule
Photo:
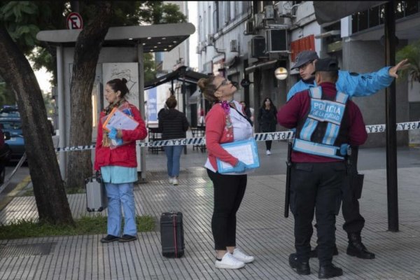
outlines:
[[[65,113],[66,108],[64,106],[64,71],[63,71],[63,59],[64,49],[62,45],[57,47],[57,91],[58,91],[58,143],[59,146],[66,146],[66,119]],[[58,163],[59,172],[61,173],[62,179],[66,178],[66,152],[58,152]]]

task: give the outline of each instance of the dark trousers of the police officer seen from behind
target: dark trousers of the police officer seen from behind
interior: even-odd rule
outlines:
[[[335,216],[346,175],[344,162],[295,163],[291,170],[290,209],[295,217],[298,260],[309,260],[314,212],[318,225],[319,264],[329,265],[335,246]]]

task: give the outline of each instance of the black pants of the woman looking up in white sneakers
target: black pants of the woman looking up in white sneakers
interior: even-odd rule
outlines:
[[[236,246],[236,213],[246,190],[246,175],[223,175],[207,169],[214,186],[211,232],[216,250]]]

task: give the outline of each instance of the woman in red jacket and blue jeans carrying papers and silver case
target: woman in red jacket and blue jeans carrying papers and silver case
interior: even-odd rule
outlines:
[[[137,239],[136,208],[134,206],[134,182],[137,181],[136,140],[145,139],[146,126],[139,110],[127,100],[127,80],[110,80],[105,86],[105,98],[109,106],[102,110],[99,118],[94,169],[100,172],[108,197],[108,226],[102,243],[133,241]],[[134,130],[103,129],[104,121],[113,109],[134,118],[139,123]],[[124,210],[124,229],[121,234],[121,204]]]

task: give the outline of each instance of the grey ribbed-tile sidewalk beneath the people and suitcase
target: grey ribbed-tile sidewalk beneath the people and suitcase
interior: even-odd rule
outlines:
[[[261,145],[260,156],[265,157]],[[181,158],[179,186],[167,183],[165,154],[146,152],[147,183],[136,186],[134,193],[137,213],[155,216],[155,232],[139,233],[139,240],[128,244],[102,244],[102,235],[1,240],[0,279],[318,279],[315,259],[311,260],[309,276],[297,275],[288,265],[288,254],[294,251],[293,217],[283,218],[286,176],[279,167],[285,161],[283,146],[274,141],[273,155],[262,158],[265,169],[277,165],[272,167],[273,174],[262,170],[248,176],[246,195],[238,212],[237,246],[254,255],[255,262],[243,269],[214,268],[210,228],[213,188],[201,167],[205,153],[188,148],[188,154]],[[379,152],[362,154],[372,158]],[[417,159],[398,169],[400,232],[387,231],[386,170],[361,172],[365,174],[360,200],[366,219],[363,241],[377,258],[360,260],[346,255],[346,233],[340,214],[336,232],[339,255],[334,263],[343,268],[344,276],[335,279],[420,279]],[[83,194],[69,195],[69,204],[75,218],[92,215],[85,211]],[[163,258],[160,253],[158,221],[160,214],[169,210],[182,211],[184,215],[186,255],[180,259]],[[0,223],[36,216],[33,197],[16,197],[0,212]],[[315,243],[313,237],[311,244]]]

